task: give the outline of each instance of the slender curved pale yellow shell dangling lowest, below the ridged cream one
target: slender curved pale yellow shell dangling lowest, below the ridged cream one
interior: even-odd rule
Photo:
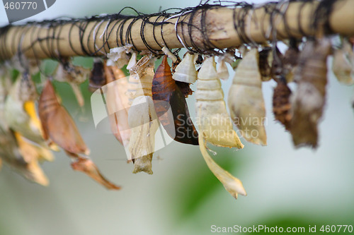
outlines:
[[[210,157],[209,153],[207,152],[202,133],[199,134],[198,139],[200,152],[202,152],[202,157],[204,157],[205,162],[207,163],[207,167],[209,167],[210,171],[212,171],[212,174],[214,174],[217,179],[219,179],[224,188],[236,199],[238,194],[247,195],[242,182],[236,177],[232,176],[232,174],[230,174],[228,171],[222,169],[216,162],[214,162],[212,157]]]

